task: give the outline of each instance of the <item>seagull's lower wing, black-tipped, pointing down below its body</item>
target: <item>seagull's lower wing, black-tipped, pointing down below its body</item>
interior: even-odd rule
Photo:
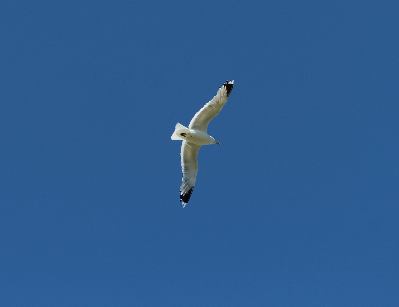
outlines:
[[[187,205],[193,193],[194,184],[196,183],[198,171],[197,156],[200,147],[201,145],[192,144],[185,140],[182,143],[180,155],[182,157],[183,183],[180,187],[180,201],[183,202],[183,207]]]

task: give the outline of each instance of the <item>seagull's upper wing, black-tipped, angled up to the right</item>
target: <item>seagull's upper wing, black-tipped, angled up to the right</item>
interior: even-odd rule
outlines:
[[[193,119],[188,125],[188,128],[206,132],[211,119],[219,114],[220,110],[225,105],[227,98],[230,95],[231,89],[233,89],[233,84],[234,80],[223,83],[223,85],[217,91],[216,96],[214,96],[211,101],[205,104],[205,106],[203,106],[201,110],[194,115]]]

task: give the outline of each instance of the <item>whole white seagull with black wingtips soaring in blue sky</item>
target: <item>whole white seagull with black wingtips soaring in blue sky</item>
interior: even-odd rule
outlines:
[[[186,207],[193,193],[194,184],[197,179],[198,161],[197,155],[201,145],[219,144],[215,139],[208,135],[206,130],[209,122],[225,105],[227,98],[233,89],[234,80],[225,82],[216,95],[205,106],[199,110],[192,118],[188,128],[180,123],[176,124],[172,134],[172,140],[182,140],[182,158],[183,183],[180,187],[180,202],[183,208]]]

